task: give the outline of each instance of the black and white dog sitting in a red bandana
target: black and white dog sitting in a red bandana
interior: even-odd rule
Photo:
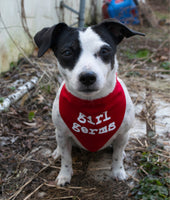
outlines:
[[[124,37],[144,35],[116,20],[79,29],[59,23],[35,35],[41,57],[49,48],[64,78],[53,104],[57,149],[61,156],[57,185],[70,183],[73,141],[95,152],[113,145],[112,175],[126,179],[123,153],[128,130],[134,121],[134,107],[122,80],[117,77],[117,45]]]

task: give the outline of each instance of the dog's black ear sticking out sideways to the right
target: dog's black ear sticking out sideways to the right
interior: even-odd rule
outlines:
[[[114,38],[116,44],[119,44],[124,37],[129,38],[134,35],[145,36],[145,34],[131,30],[126,25],[115,19],[106,19],[99,26],[104,26]]]

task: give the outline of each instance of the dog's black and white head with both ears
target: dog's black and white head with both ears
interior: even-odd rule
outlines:
[[[115,20],[83,30],[59,23],[35,35],[41,57],[51,48],[67,88],[77,96],[104,92],[115,79],[116,47],[124,37],[143,35]]]

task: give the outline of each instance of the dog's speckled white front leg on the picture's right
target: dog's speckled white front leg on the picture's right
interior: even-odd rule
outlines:
[[[113,142],[113,161],[112,161],[112,175],[113,178],[124,180],[127,178],[124,166],[124,149],[128,141],[128,133],[118,135]]]

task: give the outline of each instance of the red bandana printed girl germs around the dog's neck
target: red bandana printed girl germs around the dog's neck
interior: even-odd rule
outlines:
[[[118,80],[113,92],[101,99],[79,99],[68,92],[65,85],[60,93],[62,119],[83,147],[91,152],[101,149],[117,132],[125,109],[125,94]]]

